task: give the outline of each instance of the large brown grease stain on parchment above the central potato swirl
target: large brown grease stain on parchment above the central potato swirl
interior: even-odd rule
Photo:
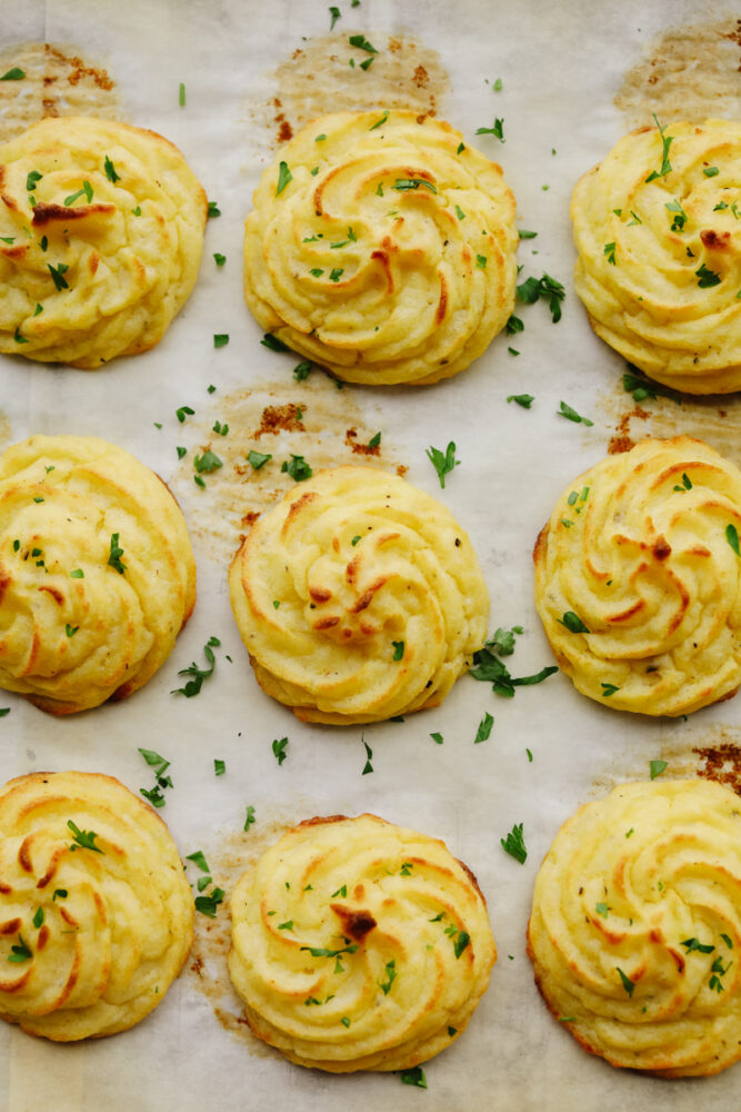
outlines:
[[[188,418],[179,430],[188,454],[169,485],[191,538],[220,564],[232,559],[263,510],[287,490],[301,486],[281,471],[291,456],[303,456],[314,474],[342,464],[377,466],[400,475],[407,470],[383,436],[381,418],[370,418],[379,423],[371,426],[348,386],[339,389],[334,379],[316,368],[297,383],[288,368],[281,361],[278,373],[287,375],[283,380],[211,395],[206,416]],[[226,436],[213,431],[217,423],[229,426]],[[380,445],[369,450],[369,441],[379,431]],[[201,488],[193,481],[194,460],[208,450],[222,466],[200,473]],[[254,468],[248,460],[250,450],[272,458]]]

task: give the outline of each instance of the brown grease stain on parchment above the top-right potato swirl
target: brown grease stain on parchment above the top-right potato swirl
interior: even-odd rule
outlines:
[[[665,8],[669,12],[669,6]],[[741,19],[671,27],[628,71],[614,98],[631,128],[741,116]]]

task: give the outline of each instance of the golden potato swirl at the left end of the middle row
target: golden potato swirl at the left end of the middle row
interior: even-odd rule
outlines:
[[[0,456],[0,688],[58,715],[130,695],[194,602],[180,507],[128,451],[32,436]]]

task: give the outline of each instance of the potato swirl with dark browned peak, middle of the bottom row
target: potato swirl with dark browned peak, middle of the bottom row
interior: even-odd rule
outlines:
[[[374,815],[289,831],[231,901],[229,972],[252,1032],[299,1065],[403,1070],[465,1027],[497,957],[475,877]]]

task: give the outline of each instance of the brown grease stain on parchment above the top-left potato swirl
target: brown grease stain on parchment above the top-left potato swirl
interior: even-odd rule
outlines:
[[[0,73],[21,69],[19,81],[0,81],[2,141],[49,116],[96,116],[119,119],[116,82],[99,62],[77,47],[26,42],[0,49]]]

